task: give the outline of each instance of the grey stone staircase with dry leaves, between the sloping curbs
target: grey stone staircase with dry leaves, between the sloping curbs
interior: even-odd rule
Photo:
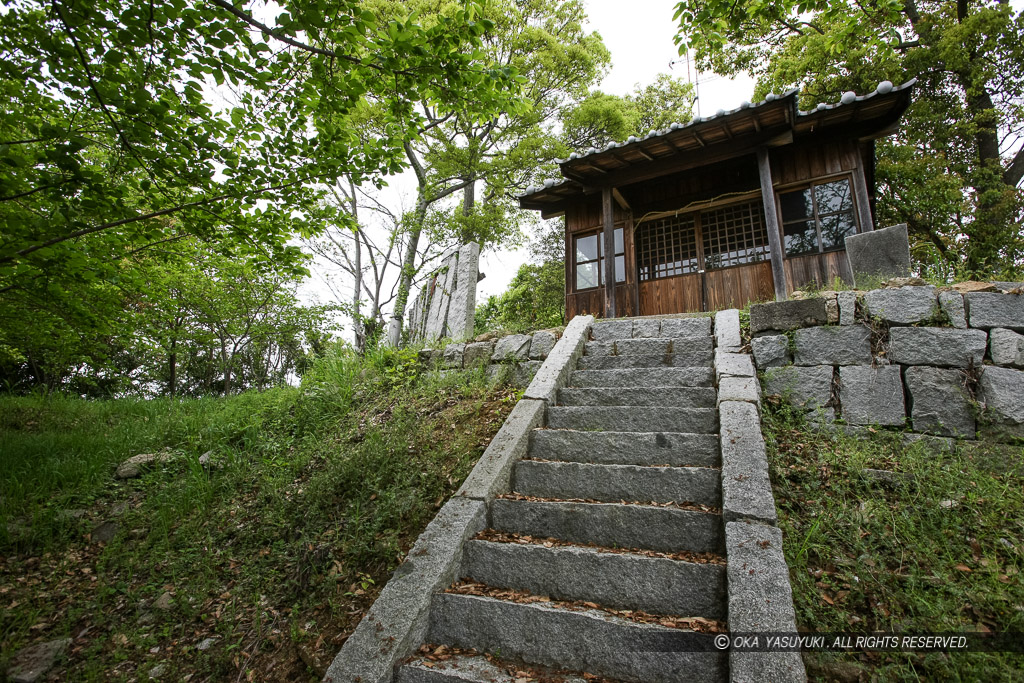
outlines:
[[[397,681],[728,679],[711,318],[656,330],[595,323]]]

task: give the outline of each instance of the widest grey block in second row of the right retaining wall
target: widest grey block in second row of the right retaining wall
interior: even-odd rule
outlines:
[[[985,357],[988,335],[981,330],[892,328],[889,359],[904,366],[968,368]]]

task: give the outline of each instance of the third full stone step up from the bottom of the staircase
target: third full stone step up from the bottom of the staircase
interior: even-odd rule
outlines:
[[[497,498],[490,525],[522,536],[662,553],[718,553],[724,543],[720,514],[653,505]]]

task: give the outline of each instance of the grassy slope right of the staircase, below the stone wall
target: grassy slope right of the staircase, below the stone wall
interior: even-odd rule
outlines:
[[[768,404],[765,436],[797,624],[816,632],[1024,632],[1024,450],[941,454],[899,434],[814,433]],[[898,473],[884,485],[864,468]],[[1017,681],[1024,655],[810,653],[816,680]]]

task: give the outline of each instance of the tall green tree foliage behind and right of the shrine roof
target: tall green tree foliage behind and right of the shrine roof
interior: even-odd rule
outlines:
[[[803,106],[918,78],[900,132],[879,144],[878,219],[907,223],[925,263],[1010,276],[1024,264],[1024,12],[996,0],[683,0],[680,51],[748,72],[756,96]]]

